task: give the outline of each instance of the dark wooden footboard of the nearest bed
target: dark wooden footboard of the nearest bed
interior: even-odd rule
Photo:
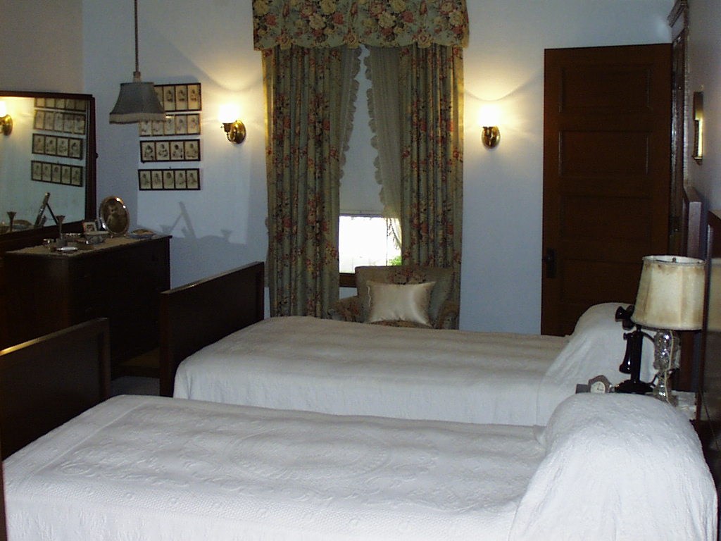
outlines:
[[[0,351],[0,447],[5,458],[110,396],[106,318]]]

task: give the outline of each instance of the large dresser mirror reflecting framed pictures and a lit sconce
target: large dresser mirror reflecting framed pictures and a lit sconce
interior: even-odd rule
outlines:
[[[39,234],[53,215],[68,231],[94,219],[94,98],[0,91],[0,109],[12,119],[0,133],[0,237]]]

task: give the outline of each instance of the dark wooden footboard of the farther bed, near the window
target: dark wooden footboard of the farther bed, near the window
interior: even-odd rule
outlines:
[[[263,319],[265,265],[250,263],[160,294],[160,394],[187,356]]]

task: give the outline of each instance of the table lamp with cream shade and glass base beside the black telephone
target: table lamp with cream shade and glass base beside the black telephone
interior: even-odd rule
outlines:
[[[653,338],[653,395],[676,405],[669,378],[678,369],[679,330],[698,330],[703,322],[705,263],[678,255],[648,255],[643,258],[632,321],[656,330]]]

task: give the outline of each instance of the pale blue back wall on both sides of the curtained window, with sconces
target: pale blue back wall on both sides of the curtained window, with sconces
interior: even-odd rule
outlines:
[[[712,10],[713,1],[701,3]],[[471,38],[464,53],[461,327],[536,333],[541,302],[543,50],[668,42],[666,17],[673,0],[466,4]],[[197,193],[138,192],[136,128],[111,126],[106,120],[118,85],[129,81],[133,71],[132,4],[84,0],[82,6],[84,91],[97,97],[99,198],[120,195],[128,203],[133,226],[173,235],[173,285],[263,260],[264,97],[260,53],[252,50],[250,2],[139,2],[143,79],[203,84],[203,189]],[[36,84],[32,76],[27,80]],[[248,136],[242,146],[225,140],[216,119],[218,105],[232,100],[244,109]],[[485,102],[498,102],[505,117],[501,144],[493,151],[480,143],[475,120]],[[721,197],[718,202],[721,205]]]

